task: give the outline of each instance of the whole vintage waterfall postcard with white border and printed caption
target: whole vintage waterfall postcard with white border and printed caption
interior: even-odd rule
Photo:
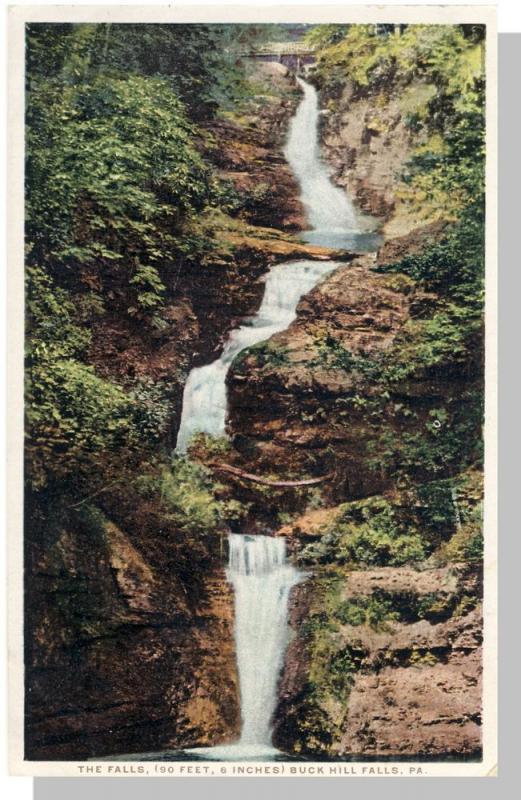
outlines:
[[[10,17],[12,772],[495,774],[494,11]]]

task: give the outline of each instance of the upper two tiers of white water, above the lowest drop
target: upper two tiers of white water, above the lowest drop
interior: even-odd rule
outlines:
[[[331,183],[320,157],[317,92],[310,84],[297,80],[304,97],[291,121],[285,155],[298,178],[301,199],[313,226],[305,238],[330,247],[352,246],[357,236],[363,236],[363,223],[345,192]],[[196,432],[214,436],[224,433],[226,375],[233,359],[246,347],[287,328],[295,319],[300,298],[338,266],[332,261],[306,260],[279,264],[269,270],[262,305],[255,317],[231,332],[220,358],[190,372],[183,395],[177,452],[186,451]]]

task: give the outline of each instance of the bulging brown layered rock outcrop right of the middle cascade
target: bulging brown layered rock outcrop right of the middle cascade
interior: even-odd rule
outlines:
[[[364,401],[381,389],[364,376],[364,360],[388,351],[432,300],[405,278],[375,273],[374,264],[365,256],[335,270],[302,299],[295,322],[239,357],[228,379],[236,447],[279,472],[325,474],[334,466],[337,497],[374,494],[392,479],[369,463],[369,449],[385,425],[411,426],[407,416],[369,417]],[[426,418],[448,382],[410,381],[397,396]]]

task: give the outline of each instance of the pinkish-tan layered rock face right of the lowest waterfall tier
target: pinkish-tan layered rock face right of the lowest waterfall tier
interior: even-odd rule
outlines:
[[[336,572],[333,607],[345,614],[385,599],[394,618],[378,624],[334,617],[324,592],[332,574],[319,573],[293,596],[296,636],[280,685],[279,746],[326,757],[479,757],[482,619],[475,572],[464,564]],[[318,634],[324,616],[330,628]]]

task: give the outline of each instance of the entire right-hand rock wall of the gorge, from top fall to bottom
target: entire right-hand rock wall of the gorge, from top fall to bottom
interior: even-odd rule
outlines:
[[[481,567],[468,550],[480,475],[440,466],[445,480],[431,486],[453,506],[443,527],[429,520],[426,487],[413,488],[396,458],[402,437],[441,427],[447,411],[455,423],[461,397],[481,380],[479,348],[464,366],[448,358],[390,382],[379,366],[411,352],[414,328],[439,303],[386,270],[447,230],[400,199],[403,170],[425,141],[407,121],[434,94],[414,81],[358,95],[348,82],[333,99],[324,92],[333,178],[381,219],[386,242],[326,277],[286,331],[236,360],[228,381],[239,452],[270,474],[334,471],[313,499],[321,507],[279,529],[313,577],[292,595],[274,741],[306,757],[465,759],[481,748]],[[386,464],[390,431],[396,451]],[[385,532],[379,555],[376,530]],[[418,537],[426,547],[417,549]]]

